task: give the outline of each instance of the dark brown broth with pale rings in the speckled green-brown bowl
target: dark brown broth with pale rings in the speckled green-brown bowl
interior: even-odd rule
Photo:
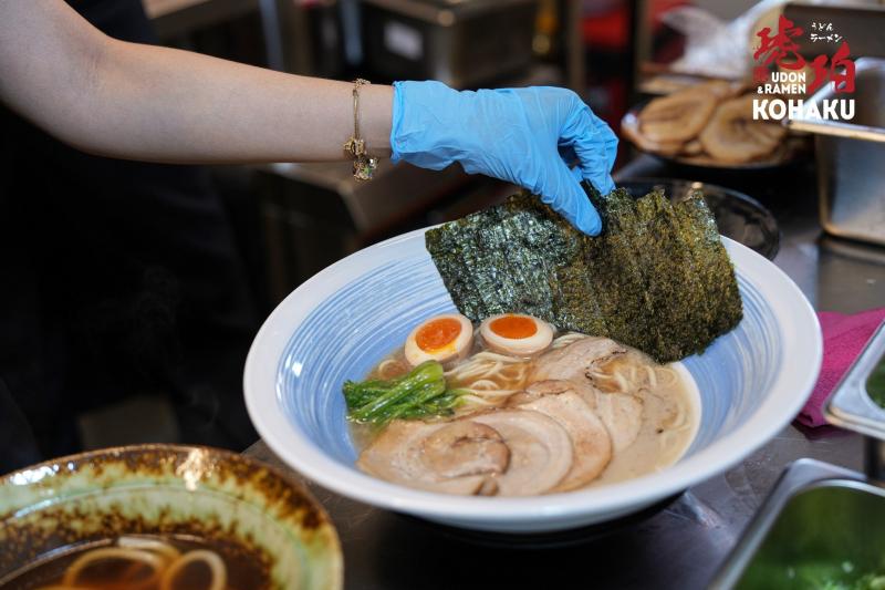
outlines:
[[[129,550],[140,551],[140,555],[150,553],[159,559],[132,559],[127,557],[132,556]],[[90,553],[94,559],[84,559]],[[185,558],[187,561],[175,566],[176,559]],[[162,563],[162,567],[150,563]],[[216,569],[219,565],[223,575]],[[164,575],[174,567],[176,571],[164,581]],[[205,541],[190,536],[138,535],[73,547],[61,555],[53,553],[29,566],[3,588],[252,590],[270,588],[270,581],[267,567],[260,559],[232,544]]]

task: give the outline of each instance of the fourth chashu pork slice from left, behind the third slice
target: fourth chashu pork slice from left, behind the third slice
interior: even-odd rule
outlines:
[[[604,393],[590,382],[546,380],[529,385],[523,400],[576,394],[590,407],[612,439],[612,452],[620,453],[636,442],[643,425],[643,402],[626,393]],[[524,407],[524,406],[523,406]]]

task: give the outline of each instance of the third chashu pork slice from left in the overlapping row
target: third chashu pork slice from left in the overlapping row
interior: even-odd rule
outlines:
[[[583,487],[596,479],[608,465],[612,459],[612,437],[590,405],[574,391],[541,395],[519,407],[552,417],[572,439],[572,467],[552,491]]]

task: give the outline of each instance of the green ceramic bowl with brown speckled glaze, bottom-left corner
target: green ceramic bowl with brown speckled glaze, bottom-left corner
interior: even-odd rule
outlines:
[[[208,447],[139,445],[72,455],[0,480],[0,587],[80,544],[192,536],[236,548],[271,588],[342,586],[339,538],[291,477]]]

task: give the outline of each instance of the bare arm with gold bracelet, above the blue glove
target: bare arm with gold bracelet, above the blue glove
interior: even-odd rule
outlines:
[[[169,163],[344,159],[353,85],[116,41],[62,0],[0,0],[0,102],[83,151]],[[389,154],[389,86],[361,132]]]

